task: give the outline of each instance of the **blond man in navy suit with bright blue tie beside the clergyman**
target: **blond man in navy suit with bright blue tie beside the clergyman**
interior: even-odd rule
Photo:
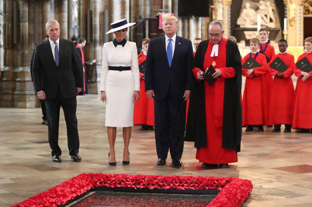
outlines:
[[[155,101],[155,139],[158,165],[168,151],[172,164],[181,166],[186,100],[190,97],[193,48],[190,40],[176,35],[177,18],[162,21],[164,36],[150,42],[146,59],[145,91]]]

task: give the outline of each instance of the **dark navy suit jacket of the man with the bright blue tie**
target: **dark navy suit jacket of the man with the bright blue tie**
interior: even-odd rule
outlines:
[[[146,58],[145,91],[154,90],[155,99],[162,100],[171,90],[176,100],[183,99],[185,90],[191,90],[193,48],[192,42],[176,37],[171,67],[167,59],[165,36],[151,40]]]

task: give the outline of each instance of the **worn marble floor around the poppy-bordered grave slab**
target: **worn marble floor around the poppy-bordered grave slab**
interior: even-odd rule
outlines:
[[[68,155],[66,129],[60,117],[61,163],[52,162],[47,126],[40,108],[0,108],[0,207],[21,202],[80,173],[223,176],[249,179],[254,189],[245,207],[312,206],[312,134],[245,132],[238,162],[227,169],[202,169],[193,143],[185,143],[182,168],[156,165],[153,131],[133,127],[129,165],[122,165],[122,134],[117,131],[117,166],[108,165],[104,104],[97,95],[78,97],[82,162]]]

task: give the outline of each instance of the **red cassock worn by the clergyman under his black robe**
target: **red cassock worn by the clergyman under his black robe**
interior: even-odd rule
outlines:
[[[208,43],[205,54],[204,68],[208,68],[215,58],[214,68],[221,70],[222,75],[218,77],[212,87],[205,81],[205,107],[206,107],[206,131],[207,147],[197,149],[196,159],[200,162],[210,164],[237,162],[237,152],[233,149],[222,148],[222,119],[223,119],[223,101],[224,101],[224,79],[234,77],[235,71],[232,67],[226,67],[226,42],[222,38],[217,57],[210,57],[213,44]],[[193,76],[197,79],[197,72],[200,68],[193,68]]]

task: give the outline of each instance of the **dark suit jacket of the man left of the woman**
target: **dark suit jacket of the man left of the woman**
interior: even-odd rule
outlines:
[[[81,58],[73,42],[59,40],[59,63],[53,58],[49,40],[36,47],[33,61],[35,91],[44,91],[47,100],[53,100],[58,90],[66,99],[77,96],[76,87],[83,86]]]

